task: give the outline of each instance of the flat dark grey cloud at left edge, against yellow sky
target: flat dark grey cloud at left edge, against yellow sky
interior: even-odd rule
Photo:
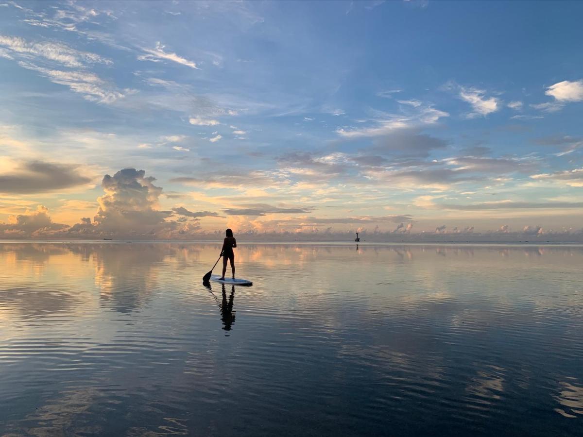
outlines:
[[[26,161],[15,171],[0,174],[2,193],[43,193],[73,188],[91,182],[79,173],[78,165]]]

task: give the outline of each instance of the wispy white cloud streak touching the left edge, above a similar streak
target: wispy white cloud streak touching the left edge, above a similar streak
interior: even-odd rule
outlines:
[[[0,35],[0,46],[8,54],[25,59],[44,59],[73,68],[83,68],[86,64],[111,64],[111,60],[91,52],[75,50],[63,43],[51,41],[29,42],[24,38]]]

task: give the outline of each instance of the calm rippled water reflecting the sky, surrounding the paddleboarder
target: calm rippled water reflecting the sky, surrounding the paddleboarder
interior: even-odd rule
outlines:
[[[582,246],[236,251],[0,244],[0,435],[583,434]]]

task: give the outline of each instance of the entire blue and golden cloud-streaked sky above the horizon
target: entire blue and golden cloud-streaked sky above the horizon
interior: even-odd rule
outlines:
[[[0,237],[582,241],[581,16],[0,0]]]

